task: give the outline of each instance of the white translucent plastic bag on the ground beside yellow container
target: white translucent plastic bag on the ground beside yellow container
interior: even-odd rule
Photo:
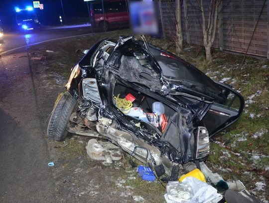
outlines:
[[[189,198],[182,192],[188,192]],[[196,178],[187,177],[182,183],[169,182],[164,198],[166,203],[218,203],[223,197],[212,186]]]

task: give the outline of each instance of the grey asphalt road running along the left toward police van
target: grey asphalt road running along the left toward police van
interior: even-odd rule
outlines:
[[[55,201],[53,175],[47,165],[51,160],[41,128],[44,121],[37,113],[27,46],[90,31],[82,27],[4,34],[0,46],[0,202]]]

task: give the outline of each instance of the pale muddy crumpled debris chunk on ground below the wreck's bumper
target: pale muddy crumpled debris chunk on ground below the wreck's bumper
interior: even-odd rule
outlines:
[[[104,161],[104,164],[112,164],[113,161],[119,161],[123,158],[123,151],[111,142],[89,140],[87,154],[92,160]]]

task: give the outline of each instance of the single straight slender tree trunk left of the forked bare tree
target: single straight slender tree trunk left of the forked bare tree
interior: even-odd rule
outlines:
[[[176,54],[183,50],[183,35],[181,29],[181,0],[176,0]]]

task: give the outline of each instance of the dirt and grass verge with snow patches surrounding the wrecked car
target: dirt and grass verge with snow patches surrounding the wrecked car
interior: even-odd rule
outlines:
[[[53,42],[53,44],[29,49],[28,55],[31,58],[37,90],[38,113],[40,119],[44,121],[42,124],[44,136],[46,136],[46,127],[54,101],[59,93],[65,91],[64,85],[70,69],[83,56],[79,49],[90,48],[100,38],[117,37],[121,34],[128,34],[128,32],[128,30],[114,31],[90,37],[79,37],[65,40],[64,43],[63,41]],[[149,40],[162,48],[169,48],[169,44],[171,44],[165,40],[151,38]],[[173,51],[173,47],[169,49]],[[53,52],[46,52],[46,50]],[[240,121],[234,125],[239,125],[239,127],[232,127],[223,133],[225,136],[220,137],[223,135],[220,134],[213,140],[208,164],[226,179],[232,179],[232,175],[236,175],[253,194],[268,203],[268,79],[260,83],[255,81],[255,89],[252,86],[248,87],[250,90],[246,89],[242,85],[244,81],[241,81],[241,77],[239,77],[239,74],[243,77],[239,67],[241,56],[221,55],[216,52],[213,53],[216,61],[208,66],[201,55],[203,53],[197,47],[189,46],[181,57],[196,65],[212,79],[232,83],[249,102],[246,102],[248,112],[245,111]],[[44,58],[36,60],[33,59],[34,57]],[[218,57],[219,59],[217,59]],[[230,60],[230,66],[224,64],[227,57],[233,59]],[[248,70],[243,78],[245,82],[254,80],[252,74],[257,74],[251,71],[254,63],[259,66],[261,77],[268,78],[268,61],[249,57],[247,63],[249,63]],[[233,74],[228,75],[231,70]],[[248,73],[249,75],[247,75]],[[241,89],[239,89],[240,87]],[[262,92],[258,92],[259,90]],[[254,94],[257,95],[252,96]],[[257,110],[258,107],[253,106],[258,104],[262,105],[262,110]],[[254,118],[252,118],[253,114]],[[64,142],[55,142],[47,138],[50,161],[55,163],[51,170],[56,183],[56,202],[165,202],[164,187],[158,182],[149,183],[140,180],[135,169],[131,168],[128,163],[126,155],[122,161],[109,167],[90,160],[85,149],[89,139],[89,137],[69,135]],[[257,164],[260,167],[255,167]]]

